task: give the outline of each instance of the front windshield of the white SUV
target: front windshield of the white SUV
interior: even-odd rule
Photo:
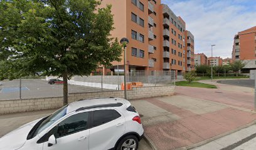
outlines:
[[[45,121],[43,121],[40,126],[36,129],[35,133],[33,134],[33,137],[35,137],[37,134],[40,134],[41,131],[51,126],[51,124],[55,123],[58,119],[62,118],[67,114],[67,108],[68,105],[64,106],[61,109],[58,109],[58,111],[55,111],[55,113],[51,114]]]

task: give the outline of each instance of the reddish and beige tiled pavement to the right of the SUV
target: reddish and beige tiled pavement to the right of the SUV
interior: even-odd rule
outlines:
[[[159,150],[188,148],[255,121],[252,93],[178,87],[175,96],[131,101]]]

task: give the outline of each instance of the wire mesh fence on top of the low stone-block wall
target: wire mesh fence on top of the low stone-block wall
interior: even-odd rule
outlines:
[[[172,86],[174,71],[131,71],[126,74],[131,88],[144,86]],[[55,82],[52,83],[51,81]],[[68,93],[88,93],[124,89],[124,73],[119,76],[73,76],[68,81]],[[52,98],[63,96],[63,81],[50,76],[40,79],[16,79],[1,81],[0,99]]]

